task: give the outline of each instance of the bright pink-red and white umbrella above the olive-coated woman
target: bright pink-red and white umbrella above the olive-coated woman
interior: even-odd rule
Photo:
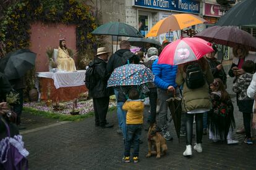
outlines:
[[[212,51],[210,42],[200,38],[182,38],[168,44],[163,49],[158,64],[179,65],[192,62]]]

